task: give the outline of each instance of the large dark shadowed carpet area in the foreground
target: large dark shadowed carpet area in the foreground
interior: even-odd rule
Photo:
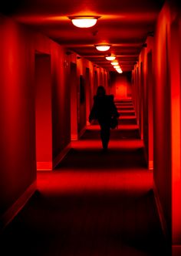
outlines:
[[[1,237],[2,256],[169,255],[153,190],[137,196],[37,191]]]

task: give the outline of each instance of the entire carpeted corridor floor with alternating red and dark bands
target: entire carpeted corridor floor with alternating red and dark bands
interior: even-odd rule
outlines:
[[[56,170],[38,173],[37,192],[1,237],[1,255],[170,255],[130,111],[106,153],[99,126],[88,126]]]

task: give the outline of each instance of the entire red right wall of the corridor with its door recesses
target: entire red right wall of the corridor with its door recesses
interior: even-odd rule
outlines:
[[[179,203],[181,201],[181,19],[176,5],[172,3],[171,6],[168,2],[163,5],[156,22],[154,36],[152,39],[148,38],[146,42],[147,47],[140,53],[139,62],[133,70],[133,100],[148,161],[152,160],[153,154],[156,202],[163,228],[169,241],[172,241],[173,255],[179,255],[181,251]],[[153,56],[151,62],[150,56]],[[152,147],[153,152],[150,155]],[[148,166],[150,167],[150,163]]]

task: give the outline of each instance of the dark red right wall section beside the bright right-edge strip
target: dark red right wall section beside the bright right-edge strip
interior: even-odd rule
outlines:
[[[163,207],[169,234],[171,232],[171,109],[168,59],[169,10],[160,13],[155,35],[153,88],[154,106],[154,180]]]

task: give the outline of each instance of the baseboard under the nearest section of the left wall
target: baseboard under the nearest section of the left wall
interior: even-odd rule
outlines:
[[[19,197],[18,200],[15,201],[12,207],[9,207],[8,211],[6,211],[5,214],[3,214],[0,217],[1,232],[15,218],[18,212],[21,211],[21,209],[25,206],[25,204],[28,202],[30,197],[35,193],[36,188],[37,188],[37,183],[35,181],[33,184],[31,184],[27,188],[27,190],[25,190],[24,194],[22,194],[21,197]]]

